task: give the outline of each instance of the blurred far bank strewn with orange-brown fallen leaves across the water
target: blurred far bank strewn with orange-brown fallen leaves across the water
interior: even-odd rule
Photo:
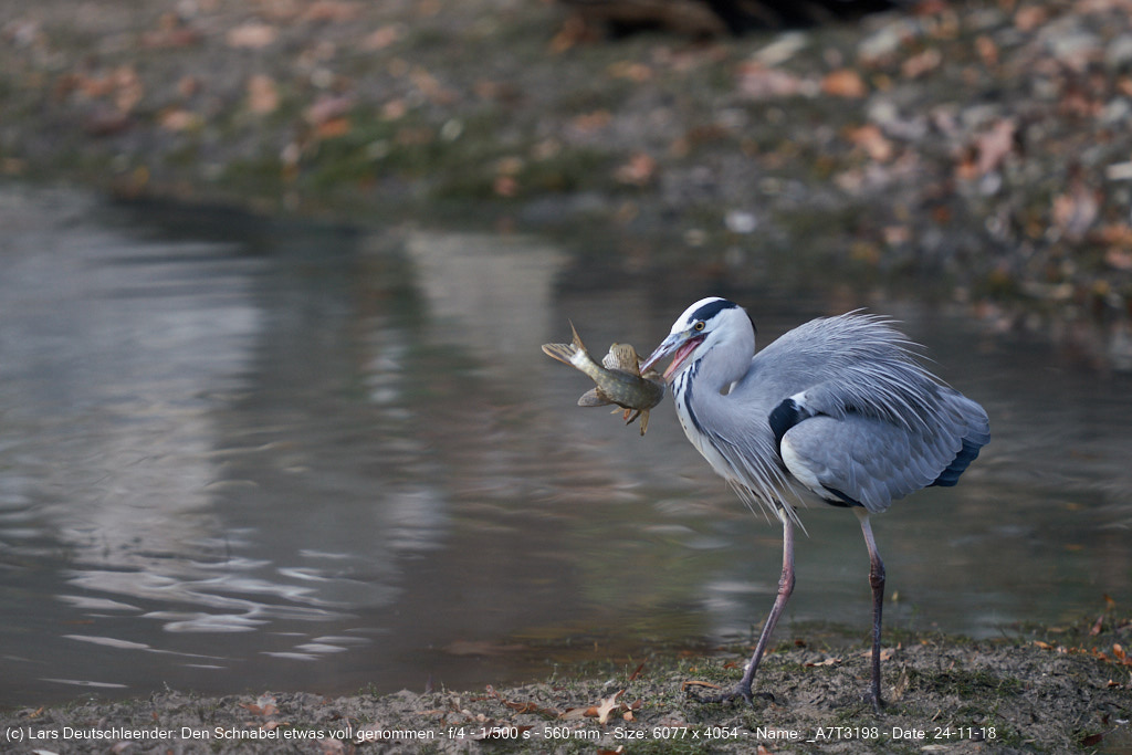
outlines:
[[[348,221],[604,228],[624,274],[933,297],[1132,369],[1130,19],[1107,0],[928,2],[594,41],[537,0],[6,1],[0,171]]]

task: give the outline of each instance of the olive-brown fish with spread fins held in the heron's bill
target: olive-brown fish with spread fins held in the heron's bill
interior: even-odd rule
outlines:
[[[623,419],[626,424],[641,418],[641,435],[644,435],[649,429],[649,410],[664,397],[664,378],[655,370],[642,375],[641,358],[627,343],[611,345],[599,364],[586,351],[573,323],[569,329],[574,334],[574,343],[544,343],[542,351],[547,357],[585,372],[598,384],[598,387],[582,394],[577,405],[617,404],[625,410]]]

